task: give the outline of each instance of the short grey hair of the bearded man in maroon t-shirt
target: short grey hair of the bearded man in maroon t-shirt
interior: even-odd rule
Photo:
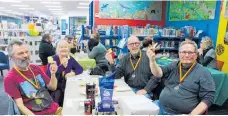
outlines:
[[[24,43],[23,41],[21,41],[21,40],[12,39],[12,40],[10,41],[10,43],[8,44],[8,46],[7,46],[7,52],[8,52],[9,57],[12,57],[13,54],[14,54],[14,51],[13,51],[13,46],[14,46],[14,45],[21,46],[21,45],[23,45],[23,44],[25,44],[25,43]]]

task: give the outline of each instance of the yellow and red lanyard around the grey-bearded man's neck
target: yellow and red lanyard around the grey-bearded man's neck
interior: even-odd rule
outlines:
[[[31,68],[30,67],[28,67],[28,69],[30,70],[30,72],[32,72],[32,75],[33,75],[33,77],[34,77],[34,80],[35,80],[35,83],[33,83],[30,79],[28,79],[24,74],[22,74],[21,73],[21,71],[19,71],[18,69],[17,69],[17,67],[16,66],[14,66],[14,69],[25,79],[25,80],[27,80],[29,83],[31,83],[36,89],[39,89],[39,83],[38,83],[38,81],[37,81],[37,79],[36,79],[36,76],[35,76],[35,74],[34,74],[34,72],[31,70]]]

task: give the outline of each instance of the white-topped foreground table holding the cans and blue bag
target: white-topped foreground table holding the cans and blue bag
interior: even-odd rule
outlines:
[[[98,81],[98,78],[100,76],[88,75],[88,72],[84,71],[80,75],[67,79],[64,104],[63,104],[63,112],[62,112],[63,115],[84,115],[84,107],[80,106],[80,104],[84,104],[83,100],[85,100],[86,96],[80,93],[80,90],[82,89],[82,86],[80,86],[80,80],[88,77],[91,77],[92,81]],[[124,82],[123,79],[115,80],[115,86],[120,88],[129,88],[129,91],[118,92],[114,90],[113,91],[114,100],[117,100],[119,97],[136,95],[131,90],[131,88]],[[96,96],[96,102],[97,101],[100,101],[100,96]],[[122,111],[118,108],[118,106],[115,106],[115,107],[116,107],[117,113],[121,114]]]

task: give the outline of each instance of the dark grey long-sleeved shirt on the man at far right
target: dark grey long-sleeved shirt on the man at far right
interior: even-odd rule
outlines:
[[[215,84],[210,72],[202,65],[196,64],[190,74],[179,85],[178,63],[161,67],[165,76],[165,88],[160,94],[160,102],[165,111],[172,114],[188,114],[201,101],[208,107],[213,103]],[[183,71],[186,72],[186,71]]]

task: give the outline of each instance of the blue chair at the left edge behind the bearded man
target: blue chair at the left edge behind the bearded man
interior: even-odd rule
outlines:
[[[3,76],[3,70],[9,70],[9,57],[4,52],[0,51],[0,70]]]

